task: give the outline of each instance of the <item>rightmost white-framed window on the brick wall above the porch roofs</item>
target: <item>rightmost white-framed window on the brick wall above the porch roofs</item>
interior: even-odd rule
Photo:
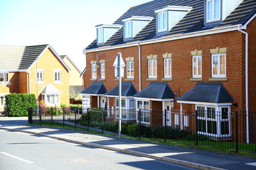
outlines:
[[[212,55],[212,77],[226,77],[226,55],[213,54]]]

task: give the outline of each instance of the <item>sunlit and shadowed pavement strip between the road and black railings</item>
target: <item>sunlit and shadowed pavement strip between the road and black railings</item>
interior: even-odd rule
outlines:
[[[55,140],[149,157],[196,169],[256,169],[256,159],[252,158],[171,145],[160,145],[139,140],[119,139],[118,137],[95,135],[75,130],[26,125],[26,123],[28,123],[27,118],[0,117],[0,132],[1,130],[27,132],[37,136],[50,137]]]

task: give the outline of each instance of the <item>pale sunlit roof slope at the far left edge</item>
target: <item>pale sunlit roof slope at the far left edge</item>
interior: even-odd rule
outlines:
[[[1,71],[17,71],[24,49],[24,46],[0,45]]]

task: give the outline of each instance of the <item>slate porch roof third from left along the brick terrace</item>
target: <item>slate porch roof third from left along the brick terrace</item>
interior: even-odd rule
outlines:
[[[174,98],[174,92],[166,82],[151,82],[149,86],[142,91],[139,91],[134,97],[170,99]]]

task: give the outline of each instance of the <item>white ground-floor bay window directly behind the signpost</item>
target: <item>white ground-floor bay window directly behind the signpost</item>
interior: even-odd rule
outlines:
[[[116,103],[116,118],[119,118],[119,98],[115,99]],[[122,120],[135,120],[135,105],[133,98],[122,98],[121,99],[121,108],[122,108]]]

